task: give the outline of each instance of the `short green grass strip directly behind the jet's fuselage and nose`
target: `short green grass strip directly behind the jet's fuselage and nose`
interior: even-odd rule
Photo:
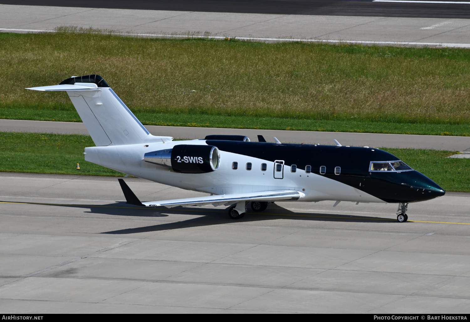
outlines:
[[[123,176],[123,173],[84,160],[91,137],[0,132],[0,171]],[[384,148],[430,177],[446,191],[470,192],[470,160],[446,158],[452,151]],[[80,170],[75,169],[77,163]]]

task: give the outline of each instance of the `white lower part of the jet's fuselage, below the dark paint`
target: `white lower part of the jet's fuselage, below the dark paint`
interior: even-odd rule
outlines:
[[[220,151],[219,169],[208,173],[178,173],[164,166],[145,162],[144,154],[171,149],[174,145],[206,145],[205,140],[109,145],[85,148],[85,160],[126,174],[165,185],[213,194],[251,193],[270,190],[296,190],[305,193],[299,201],[384,202],[350,185],[298,169],[284,167],[282,178],[274,178],[274,162]],[[238,162],[238,169],[232,163]],[[252,169],[246,169],[251,162]],[[266,171],[261,164],[266,163]],[[278,176],[279,177],[279,176]]]

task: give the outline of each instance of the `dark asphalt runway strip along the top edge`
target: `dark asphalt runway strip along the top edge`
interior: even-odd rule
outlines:
[[[278,15],[388,16],[469,18],[466,3],[393,3],[372,0],[0,0],[1,4],[140,9],[167,11],[230,12]],[[457,1],[458,2],[458,1]],[[464,2],[464,1],[462,1]]]

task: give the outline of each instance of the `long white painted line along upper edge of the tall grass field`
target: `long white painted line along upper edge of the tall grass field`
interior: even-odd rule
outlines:
[[[11,29],[0,28],[0,32],[19,31],[19,32],[56,32],[55,30],[36,30],[36,29]],[[195,36],[195,35],[171,35],[171,34],[155,34],[155,33],[124,33],[111,32],[115,36],[137,36],[137,37],[156,37],[156,38],[204,38],[219,39],[226,38],[237,40],[259,40],[259,41],[302,41],[302,42],[320,42],[332,44],[367,44],[367,45],[404,45],[404,46],[436,46],[446,48],[470,48],[470,44],[459,43],[440,43],[440,42],[415,42],[415,41],[372,41],[372,40],[323,40],[323,39],[296,39],[296,38],[261,38],[261,37],[225,37],[225,36]]]

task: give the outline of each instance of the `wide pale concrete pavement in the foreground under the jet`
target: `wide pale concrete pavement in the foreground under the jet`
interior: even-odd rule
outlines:
[[[141,200],[197,196],[126,178]],[[470,194],[140,209],[117,178],[0,173],[2,313],[470,312]],[[461,224],[457,224],[461,223]]]

